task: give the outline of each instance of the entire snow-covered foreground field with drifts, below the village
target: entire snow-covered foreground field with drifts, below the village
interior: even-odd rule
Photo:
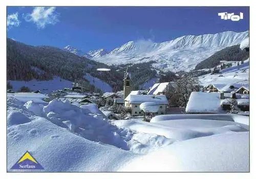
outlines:
[[[20,95],[7,96],[8,171],[27,150],[43,172],[249,171],[247,116],[115,121],[96,105]]]

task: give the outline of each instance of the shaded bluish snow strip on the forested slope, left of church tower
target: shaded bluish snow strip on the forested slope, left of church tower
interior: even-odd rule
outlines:
[[[103,92],[112,92],[112,87],[102,80],[91,76],[90,74],[86,74],[83,76],[84,79],[87,79],[91,85],[95,86],[96,88],[100,89]]]

